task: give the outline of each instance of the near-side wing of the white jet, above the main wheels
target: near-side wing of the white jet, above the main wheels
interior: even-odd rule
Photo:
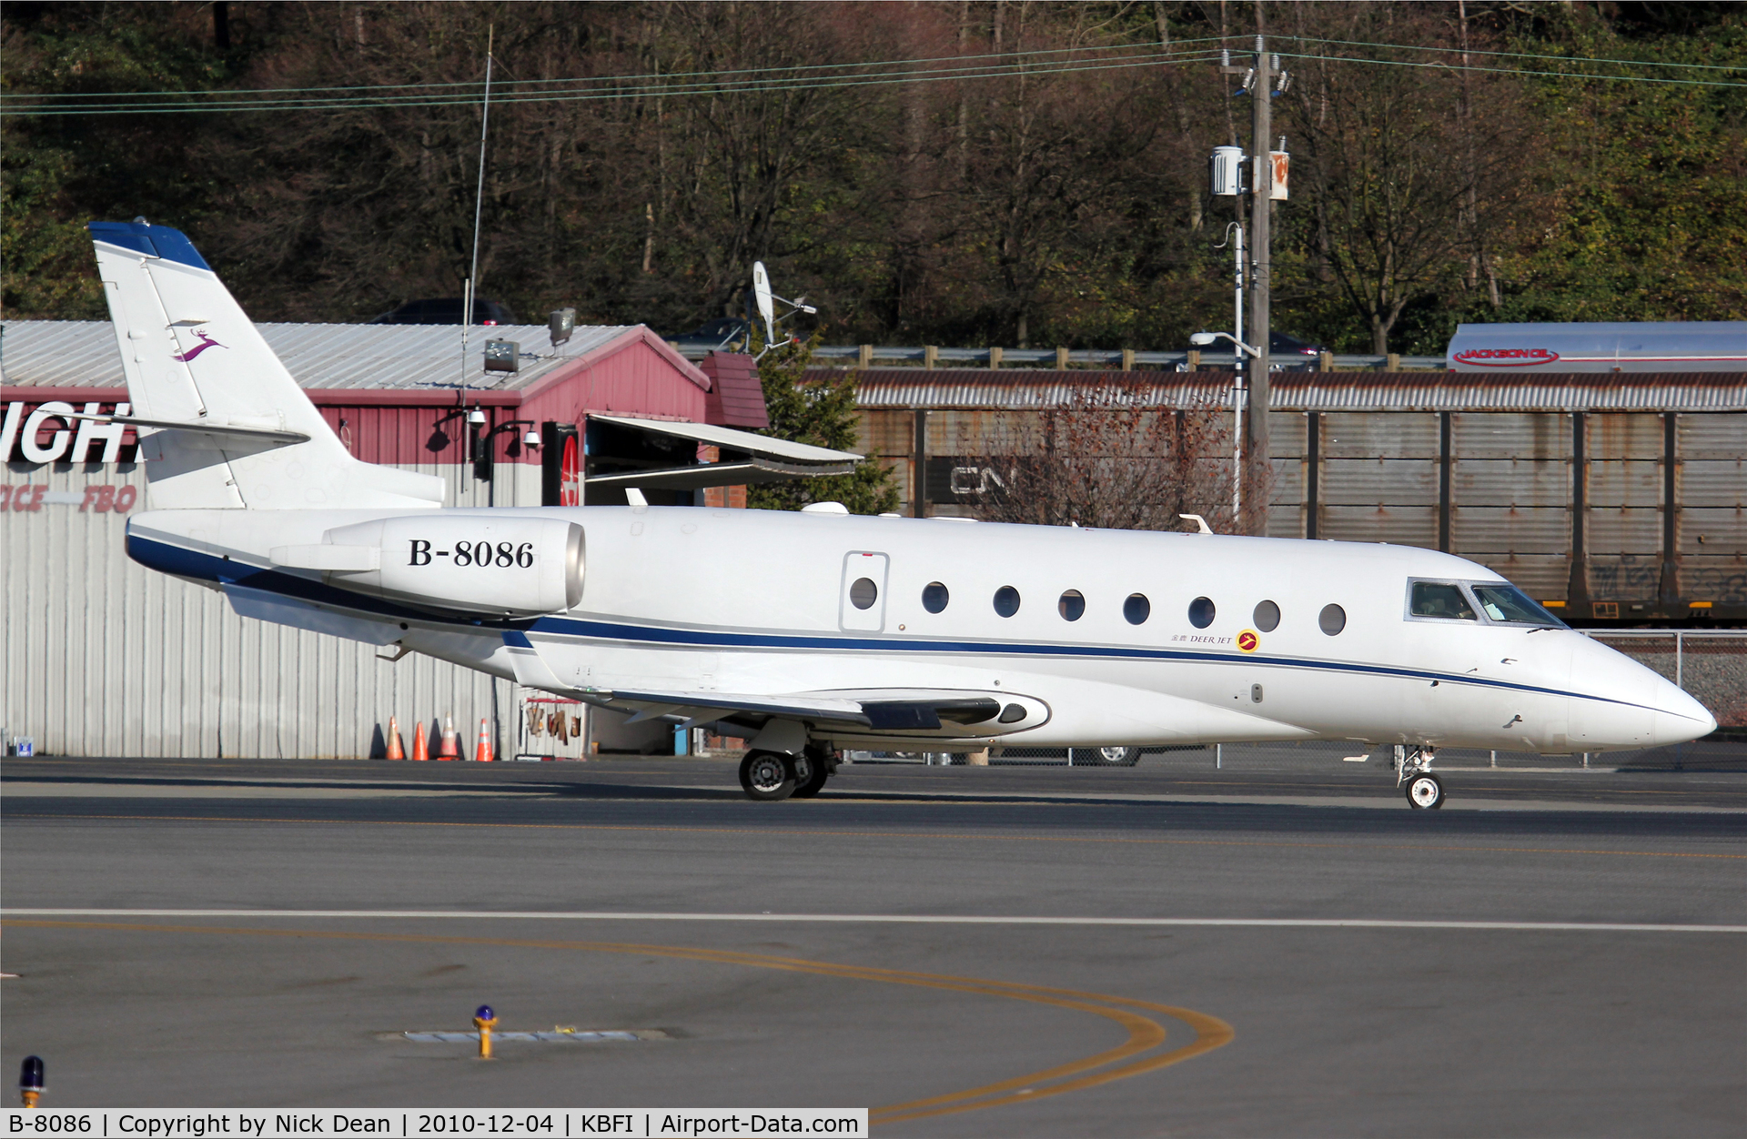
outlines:
[[[611,694],[599,694],[604,708],[636,709],[631,718],[653,720],[657,716],[683,716],[688,725],[711,723],[734,716],[805,720],[811,723],[842,723],[874,732],[938,732],[987,725],[984,732],[1010,730],[1020,720],[1008,720],[1001,727],[1005,709],[1015,708],[1012,699],[1003,702],[999,694],[966,690],[929,690],[929,688],[858,688],[839,692],[795,692],[783,695],[749,695],[734,692],[636,692],[615,688]],[[1025,711],[1024,721],[1036,721],[1036,711],[1024,699],[1019,704]],[[1046,713],[1045,713],[1046,714]],[[1025,725],[1029,727],[1029,723]]]

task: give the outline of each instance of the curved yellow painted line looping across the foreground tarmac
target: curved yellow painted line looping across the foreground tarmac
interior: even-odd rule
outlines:
[[[549,942],[526,938],[466,938],[445,935],[418,933],[356,933],[346,929],[257,929],[231,926],[157,926],[131,922],[77,922],[77,921],[14,921],[5,924],[35,929],[115,929],[128,933],[189,933],[220,936],[283,936],[283,938],[325,938],[337,942],[404,942],[416,945],[489,945],[496,949],[559,949],[597,954],[643,954],[655,957],[674,957],[681,961],[708,961],[715,964],[737,964],[760,970],[783,970],[790,973],[816,973],[819,977],[837,977],[844,980],[867,980],[891,985],[915,985],[922,989],[947,989],[954,992],[971,992],[978,996],[1006,997],[1012,1001],[1029,1001],[1032,1004],[1050,1004],[1083,1011],[1116,1022],[1129,1032],[1129,1039],[1080,1060],[1069,1060],[1055,1067],[1027,1073],[999,1083],[989,1083],[963,1092],[949,1092],[928,1099],[915,1099],[886,1108],[874,1108],[868,1113],[872,1123],[896,1123],[901,1120],[919,1120],[933,1115],[954,1115],[959,1111],[978,1111],[982,1108],[1001,1108],[1006,1104],[1031,1102],[1046,1095],[1080,1092],[1127,1080],[1143,1073],[1181,1064],[1191,1057],[1221,1048],[1235,1032],[1230,1024],[1207,1013],[1170,1004],[1153,1004],[1130,997],[1106,996],[1101,992],[1080,992],[1076,989],[1052,989],[1046,985],[1024,985],[1017,982],[985,980],[977,977],[952,977],[942,973],[912,973],[905,970],[882,970],[858,964],[835,964],[830,961],[809,961],[805,957],[777,957],[770,954],[742,954],[723,949],[695,949],[685,945],[638,945],[627,942]],[[1170,1052],[1155,1052],[1165,1043],[1165,1025],[1143,1011],[1162,1013],[1181,1020],[1195,1029],[1195,1039]],[[1153,1055],[1146,1055],[1153,1053]],[[1127,1062],[1123,1062],[1127,1060]],[[1115,1067],[1113,1067],[1115,1066]],[[1102,1071],[1099,1071],[1102,1069]],[[1020,1094],[1024,1092],[1024,1094]]]

